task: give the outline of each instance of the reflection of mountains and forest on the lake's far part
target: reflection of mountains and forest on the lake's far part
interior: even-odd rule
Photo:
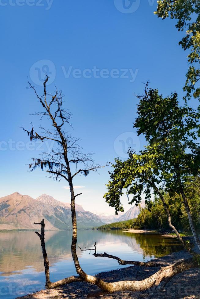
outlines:
[[[71,231],[52,231],[45,233],[46,251],[50,265],[71,257]],[[10,232],[0,234],[0,272],[9,275],[32,266],[36,271],[43,271],[43,257],[39,237],[34,232]],[[161,256],[180,250],[174,239],[162,238],[156,235],[131,234],[123,231],[78,231],[78,245],[81,248],[94,248],[97,241],[98,252],[106,251],[108,245],[113,248],[116,243],[125,248],[127,245],[133,252],[144,256]],[[110,250],[110,249],[109,249]],[[111,249],[112,251],[112,249]],[[108,252],[112,254],[112,252]],[[79,258],[83,252],[77,248]],[[120,255],[120,253],[119,253]],[[90,258],[93,258],[91,256]]]

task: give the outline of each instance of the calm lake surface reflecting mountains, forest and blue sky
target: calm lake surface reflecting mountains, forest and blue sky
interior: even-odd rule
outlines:
[[[76,275],[70,251],[71,235],[71,231],[45,233],[52,282]],[[77,243],[81,248],[94,248],[95,241],[97,253],[107,252],[135,261],[147,261],[182,249],[176,239],[160,235],[132,234],[123,230],[78,231]],[[92,253],[77,248],[80,264],[88,274],[127,267],[113,259],[95,258]],[[0,233],[0,297],[13,299],[41,290],[44,285],[39,237],[34,232]]]

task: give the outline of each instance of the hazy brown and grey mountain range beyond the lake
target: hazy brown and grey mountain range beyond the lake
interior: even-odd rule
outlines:
[[[91,229],[112,222],[136,218],[138,207],[131,207],[126,213],[96,215],[76,204],[77,227]],[[46,230],[71,229],[71,206],[43,194],[36,199],[18,192],[0,198],[0,230],[38,229],[33,222],[44,218]]]

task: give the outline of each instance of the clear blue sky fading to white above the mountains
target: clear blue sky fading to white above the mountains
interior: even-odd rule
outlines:
[[[29,159],[38,157],[39,144],[30,147],[20,126],[31,128],[40,110],[27,76],[38,91],[43,71],[50,76],[48,89],[62,88],[65,106],[73,113],[72,135],[81,138],[96,163],[126,157],[133,145],[145,145],[137,137],[135,94],[143,82],[164,95],[182,86],[187,53],[178,46],[173,20],[154,15],[154,0],[0,0],[1,22],[1,143],[0,196],[18,191],[33,198],[46,193],[69,202],[65,181],[54,182],[46,173],[28,172]],[[130,8],[129,8],[130,6]],[[47,145],[48,146],[48,145]],[[108,168],[87,178],[78,176],[83,195],[76,200],[84,209],[114,214],[103,199]],[[130,208],[125,203],[125,210]]]

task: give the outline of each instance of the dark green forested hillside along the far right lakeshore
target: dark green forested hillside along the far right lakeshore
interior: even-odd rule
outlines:
[[[187,182],[187,196],[194,218],[194,223],[197,229],[200,229],[200,180]],[[176,195],[176,200],[170,198],[169,194],[165,193],[167,203],[172,218],[172,224],[179,230],[190,231],[188,217],[185,207]],[[158,198],[152,202],[151,211],[147,207],[140,207],[140,213],[137,218],[128,221],[115,222],[102,225],[99,229],[169,229],[167,214],[165,212],[162,201]]]

